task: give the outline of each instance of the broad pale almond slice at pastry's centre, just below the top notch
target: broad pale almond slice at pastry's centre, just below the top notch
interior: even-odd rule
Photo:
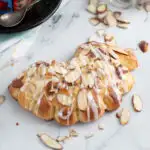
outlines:
[[[65,76],[65,81],[68,83],[73,83],[80,78],[80,70],[74,69],[68,72]]]

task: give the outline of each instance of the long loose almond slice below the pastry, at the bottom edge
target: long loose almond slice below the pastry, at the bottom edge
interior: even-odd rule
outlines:
[[[55,139],[48,136],[46,133],[38,134],[39,139],[45,144],[47,147],[55,149],[55,150],[62,150],[63,147],[60,143],[58,143]]]

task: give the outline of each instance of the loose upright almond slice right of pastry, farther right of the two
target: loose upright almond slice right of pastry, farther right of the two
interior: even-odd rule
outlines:
[[[133,104],[133,108],[135,111],[137,111],[137,112],[142,111],[143,104],[142,104],[140,96],[134,94],[132,96],[132,104]]]

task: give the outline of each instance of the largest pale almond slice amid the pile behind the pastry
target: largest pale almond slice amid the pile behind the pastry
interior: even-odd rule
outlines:
[[[117,20],[116,20],[116,18],[111,13],[108,13],[106,15],[106,22],[108,23],[108,25],[110,27],[114,27],[114,26],[117,25]]]

